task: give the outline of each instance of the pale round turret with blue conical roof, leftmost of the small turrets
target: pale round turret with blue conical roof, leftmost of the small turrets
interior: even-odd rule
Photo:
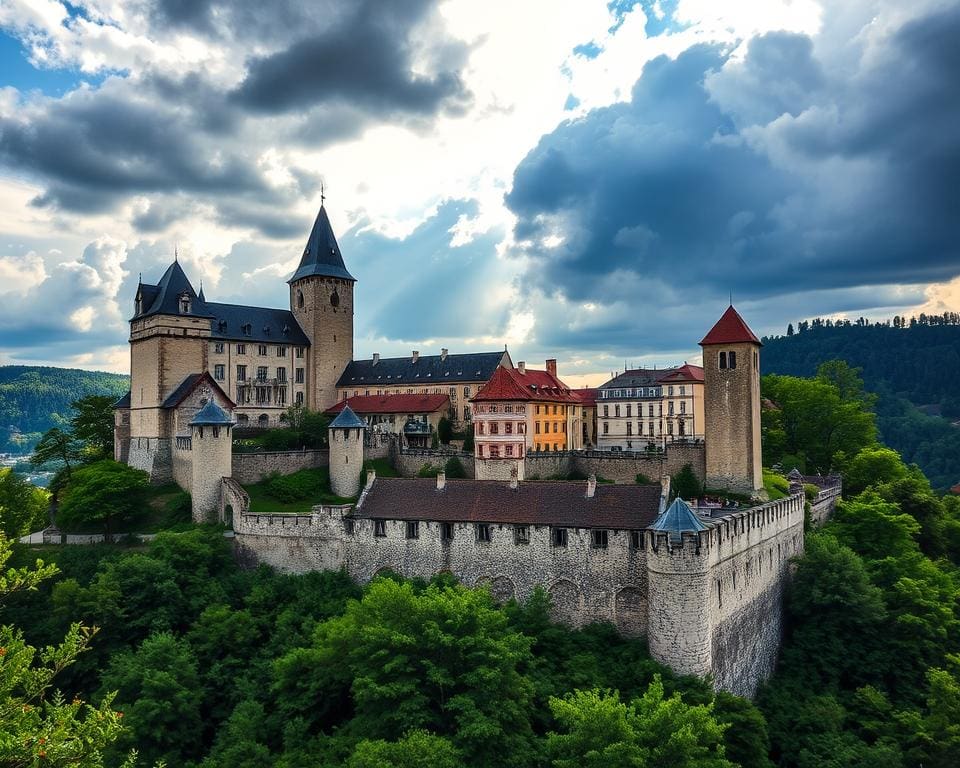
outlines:
[[[233,472],[232,427],[230,415],[213,400],[208,400],[190,422],[193,464],[190,495],[195,523],[217,519],[223,478]]]

